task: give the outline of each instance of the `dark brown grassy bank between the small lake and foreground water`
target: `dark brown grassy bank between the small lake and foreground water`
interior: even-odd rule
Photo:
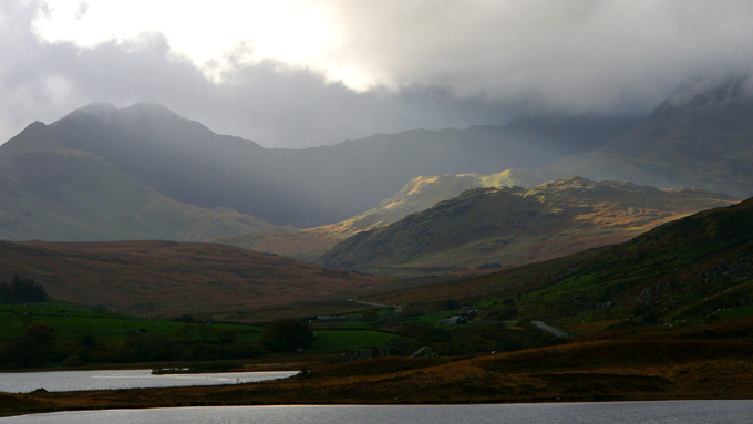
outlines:
[[[319,364],[258,383],[0,393],[0,416],[179,406],[751,400],[751,351],[747,341],[613,340],[462,360],[391,356]]]

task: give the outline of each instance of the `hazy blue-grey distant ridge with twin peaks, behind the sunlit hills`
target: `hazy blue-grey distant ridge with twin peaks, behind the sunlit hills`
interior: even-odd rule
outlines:
[[[92,154],[176,201],[300,228],[358,215],[421,175],[539,167],[604,143],[627,125],[626,120],[595,117],[528,120],[268,149],[214,134],[158,105],[118,110],[92,104],[45,131],[22,132],[0,148],[0,161],[27,144],[55,144]]]

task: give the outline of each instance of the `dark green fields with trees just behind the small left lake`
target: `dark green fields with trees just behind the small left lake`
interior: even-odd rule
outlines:
[[[45,302],[0,306],[0,368],[81,366],[159,361],[256,359],[262,325],[152,320],[90,307]],[[400,335],[363,329],[313,330],[308,353],[386,345]]]

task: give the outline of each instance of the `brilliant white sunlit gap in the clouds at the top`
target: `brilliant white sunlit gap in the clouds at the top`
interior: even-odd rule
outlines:
[[[188,58],[215,82],[239,66],[271,60],[323,72],[353,89],[371,83],[369,76],[332,60],[342,48],[343,34],[331,10],[317,2],[50,0],[45,4],[33,28],[51,43],[137,45],[145,35],[158,33],[166,38],[172,55]]]

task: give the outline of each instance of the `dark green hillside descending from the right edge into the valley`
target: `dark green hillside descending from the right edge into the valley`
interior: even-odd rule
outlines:
[[[753,199],[661,225],[616,246],[425,286],[376,301],[466,299],[488,317],[546,319],[576,335],[663,323],[682,330],[749,318],[694,338],[750,339],[753,317]]]

